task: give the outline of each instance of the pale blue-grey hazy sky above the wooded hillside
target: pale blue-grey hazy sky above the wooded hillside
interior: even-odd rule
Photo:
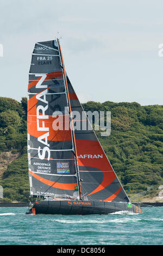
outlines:
[[[35,42],[59,32],[80,102],[163,105],[162,10],[159,0],[1,0],[0,96],[27,96]]]

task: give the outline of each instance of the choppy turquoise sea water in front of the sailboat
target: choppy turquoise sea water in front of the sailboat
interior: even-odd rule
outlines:
[[[163,245],[163,207],[142,214],[26,215],[0,208],[0,245]]]

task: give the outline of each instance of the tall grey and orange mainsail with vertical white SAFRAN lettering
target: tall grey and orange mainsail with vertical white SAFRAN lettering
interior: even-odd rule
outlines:
[[[66,130],[57,127],[59,118]],[[27,127],[30,194],[79,199],[58,40],[35,44],[29,71]]]

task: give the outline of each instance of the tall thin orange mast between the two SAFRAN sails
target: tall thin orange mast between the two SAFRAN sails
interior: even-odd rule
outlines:
[[[74,155],[75,155],[75,160],[76,160],[77,181],[78,181],[78,188],[79,188],[79,196],[80,196],[80,200],[82,200],[82,192],[81,192],[80,176],[79,176],[79,166],[78,166],[77,146],[76,146],[76,138],[75,138],[75,135],[74,135],[74,126],[73,126],[73,117],[72,117],[72,110],[71,110],[71,103],[70,103],[70,95],[69,95],[69,92],[68,92],[68,85],[67,85],[67,78],[66,78],[66,72],[65,72],[64,59],[63,59],[63,57],[62,57],[60,42],[59,42],[59,39],[58,39],[58,38],[57,38],[57,41],[58,41],[58,45],[59,45],[59,54],[60,54],[62,69],[63,69],[63,72],[64,72],[64,82],[65,82],[66,91],[67,91],[68,106],[69,106],[69,109],[70,109],[70,118],[71,118],[71,125],[72,125],[72,126],[71,126],[71,127],[72,127],[72,140],[73,140]]]

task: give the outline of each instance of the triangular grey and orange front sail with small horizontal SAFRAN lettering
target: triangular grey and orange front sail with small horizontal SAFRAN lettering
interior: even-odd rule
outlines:
[[[77,111],[80,113],[80,117],[82,117],[80,120],[74,119],[74,123],[76,123],[74,133],[77,145],[82,199],[118,202],[129,201],[89,123],[87,115],[68,77],[67,84],[72,112]],[[77,125],[77,123],[80,124]]]

